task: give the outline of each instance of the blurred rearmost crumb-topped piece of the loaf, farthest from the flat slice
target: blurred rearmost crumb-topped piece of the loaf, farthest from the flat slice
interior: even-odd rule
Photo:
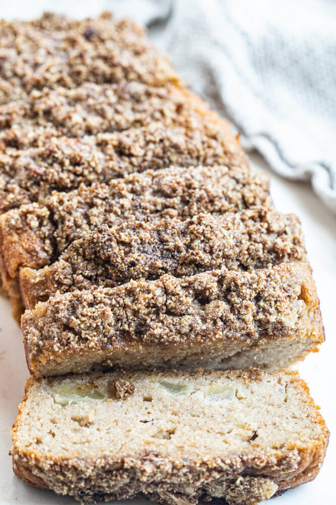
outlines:
[[[121,79],[157,86],[178,80],[144,28],[116,21],[111,13],[83,21],[51,13],[30,22],[2,20],[0,49],[2,104],[24,98],[34,88]]]

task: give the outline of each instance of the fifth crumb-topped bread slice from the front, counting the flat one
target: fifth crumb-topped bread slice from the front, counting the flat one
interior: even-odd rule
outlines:
[[[83,138],[46,139],[41,147],[0,153],[0,212],[41,203],[53,189],[70,191],[82,182],[108,182],[173,164],[247,168],[247,159],[234,137],[202,124],[190,130],[158,122]]]

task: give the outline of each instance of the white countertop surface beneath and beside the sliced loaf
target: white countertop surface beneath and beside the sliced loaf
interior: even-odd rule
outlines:
[[[262,160],[254,155],[252,164],[267,170]],[[304,183],[285,181],[272,174],[271,192],[276,207],[284,213],[297,214],[302,222],[308,257],[313,268],[321,311],[325,326],[326,342],[320,352],[309,355],[298,364],[303,379],[308,382],[311,394],[331,431],[327,455],[315,481],[274,498],[272,505],[331,505],[335,503],[336,478],[336,336],[333,311],[336,313],[336,218],[327,211]],[[9,430],[17,415],[17,406],[23,396],[24,382],[28,377],[21,330],[12,319],[8,300],[0,298],[0,505],[74,504],[69,497],[56,496],[51,491],[30,488],[12,471]],[[133,500],[140,505],[146,500]]]

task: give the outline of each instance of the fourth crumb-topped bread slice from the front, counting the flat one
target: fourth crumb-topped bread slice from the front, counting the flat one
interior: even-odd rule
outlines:
[[[53,193],[37,204],[0,216],[0,265],[4,287],[19,267],[41,268],[71,242],[102,224],[163,217],[186,219],[200,212],[221,214],[255,205],[270,207],[269,179],[245,167],[170,167],[134,173],[109,184],[81,185]]]

